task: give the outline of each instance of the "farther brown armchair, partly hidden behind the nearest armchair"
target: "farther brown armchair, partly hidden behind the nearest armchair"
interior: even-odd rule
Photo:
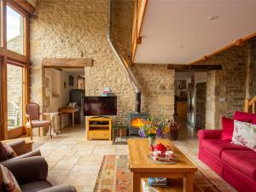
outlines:
[[[19,160],[27,157],[32,157],[32,156],[41,156],[41,152],[39,149],[35,149],[32,151],[29,151],[26,146],[26,142],[24,139],[20,139],[11,143],[8,143],[11,148],[14,149],[15,153],[18,155],[14,158],[11,158],[9,160],[3,160],[0,163],[10,161],[10,160]]]

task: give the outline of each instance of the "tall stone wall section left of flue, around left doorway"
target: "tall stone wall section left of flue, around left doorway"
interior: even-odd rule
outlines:
[[[92,58],[85,94],[108,86],[118,96],[118,121],[135,110],[135,89],[108,44],[108,0],[38,1],[31,19],[31,100],[44,106],[43,58]],[[46,106],[44,106],[45,108]]]

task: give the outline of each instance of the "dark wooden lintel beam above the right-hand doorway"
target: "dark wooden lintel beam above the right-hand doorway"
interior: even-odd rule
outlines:
[[[177,72],[208,72],[222,70],[222,65],[168,65],[167,68]]]

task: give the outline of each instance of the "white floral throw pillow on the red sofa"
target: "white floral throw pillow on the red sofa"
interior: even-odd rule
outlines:
[[[256,151],[256,125],[235,120],[232,143]]]

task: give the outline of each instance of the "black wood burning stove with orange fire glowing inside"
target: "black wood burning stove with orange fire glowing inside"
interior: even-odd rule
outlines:
[[[129,136],[138,135],[138,131],[141,125],[143,125],[143,119],[148,118],[148,113],[129,113]]]

